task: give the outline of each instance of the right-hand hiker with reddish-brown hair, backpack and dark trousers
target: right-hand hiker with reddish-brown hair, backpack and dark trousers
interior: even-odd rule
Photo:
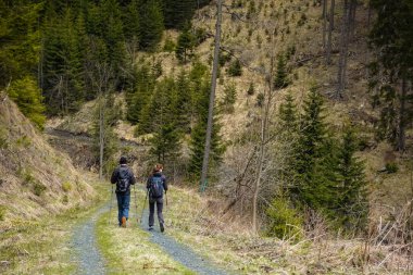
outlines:
[[[167,191],[166,177],[162,174],[163,166],[157,164],[153,167],[152,174],[149,176],[147,182],[147,189],[149,196],[149,230],[153,230],[154,222],[154,204],[157,203],[157,212],[159,226],[161,232],[164,232],[164,220],[162,214],[163,209],[163,192]],[[158,186],[158,189],[157,189]]]

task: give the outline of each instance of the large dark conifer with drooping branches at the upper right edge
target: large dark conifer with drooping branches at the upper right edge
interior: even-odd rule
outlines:
[[[380,110],[379,133],[398,150],[405,150],[405,132],[413,121],[413,7],[409,0],[372,0],[377,18],[370,34],[379,54],[370,70],[374,107]]]

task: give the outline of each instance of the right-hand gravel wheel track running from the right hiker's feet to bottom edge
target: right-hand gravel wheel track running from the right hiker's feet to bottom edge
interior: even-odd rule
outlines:
[[[143,212],[142,218],[142,229],[148,230],[148,209]],[[180,262],[183,265],[187,266],[189,270],[196,272],[197,274],[208,274],[208,275],[226,275],[227,272],[213,266],[206,259],[197,254],[192,249],[177,242],[173,238],[162,234],[159,229],[158,220],[155,213],[155,226],[154,230],[150,232],[150,240],[163,248],[175,261]],[[167,218],[167,217],[166,217]],[[165,228],[167,230],[167,227]]]

